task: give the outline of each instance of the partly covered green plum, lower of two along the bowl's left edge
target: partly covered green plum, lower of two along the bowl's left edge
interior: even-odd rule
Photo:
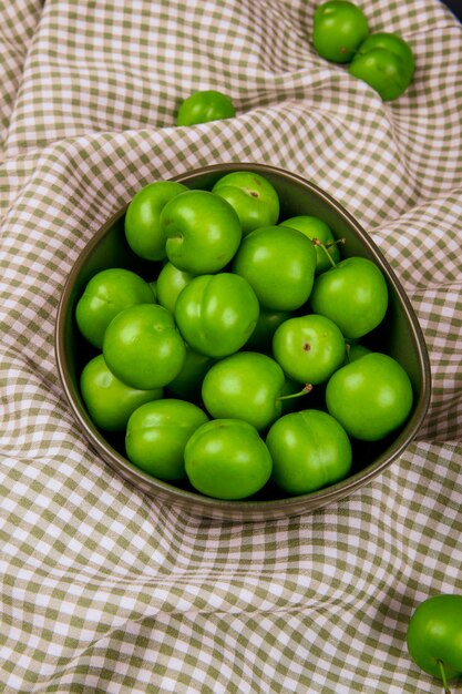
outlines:
[[[105,431],[123,431],[136,408],[163,396],[162,388],[138,390],[123,384],[101,354],[83,367],[80,390],[91,420]]]

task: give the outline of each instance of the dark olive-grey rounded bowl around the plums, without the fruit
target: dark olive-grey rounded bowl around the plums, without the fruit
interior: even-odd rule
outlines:
[[[336,503],[370,482],[402,453],[417,435],[429,406],[429,357],[412,306],[383,254],[358,222],[318,186],[290,172],[251,163],[217,164],[175,176],[174,180],[191,188],[209,190],[220,176],[232,171],[253,171],[270,181],[279,194],[280,220],[302,214],[318,216],[330,226],[336,237],[346,238],[343,257],[362,256],[380,267],[388,283],[389,308],[382,324],[368,338],[372,348],[394,357],[411,379],[414,404],[404,426],[381,441],[353,443],[353,468],[347,479],[297,497],[281,497],[280,492],[267,486],[250,499],[223,501],[202,496],[186,484],[175,487],[163,482],[137,469],[124,455],[123,438],[100,431],[85,410],[79,379],[84,364],[94,351],[80,335],[74,318],[76,302],[95,273],[107,267],[126,267],[146,279],[154,278],[152,265],[135,256],[126,244],[126,206],[95,233],[68,277],[57,315],[55,356],[62,387],[78,425],[116,474],[157,501],[194,516],[239,522],[274,520]]]

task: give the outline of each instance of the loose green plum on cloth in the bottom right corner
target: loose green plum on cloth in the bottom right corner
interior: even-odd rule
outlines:
[[[429,675],[443,681],[462,676],[462,595],[437,594],[417,608],[408,625],[408,650]]]

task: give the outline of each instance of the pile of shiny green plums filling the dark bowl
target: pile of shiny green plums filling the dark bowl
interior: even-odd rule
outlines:
[[[88,414],[160,480],[228,500],[309,493],[411,411],[404,369],[362,343],[387,313],[381,269],[342,258],[319,217],[280,217],[254,172],[212,190],[150,183],[124,218],[150,276],[102,269],[78,299],[96,351],[80,376]]]

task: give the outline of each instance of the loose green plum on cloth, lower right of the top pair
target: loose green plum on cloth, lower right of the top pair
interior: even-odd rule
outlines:
[[[415,70],[412,50],[396,33],[370,34],[359,47],[349,71],[367,82],[383,101],[401,96],[412,82]]]

